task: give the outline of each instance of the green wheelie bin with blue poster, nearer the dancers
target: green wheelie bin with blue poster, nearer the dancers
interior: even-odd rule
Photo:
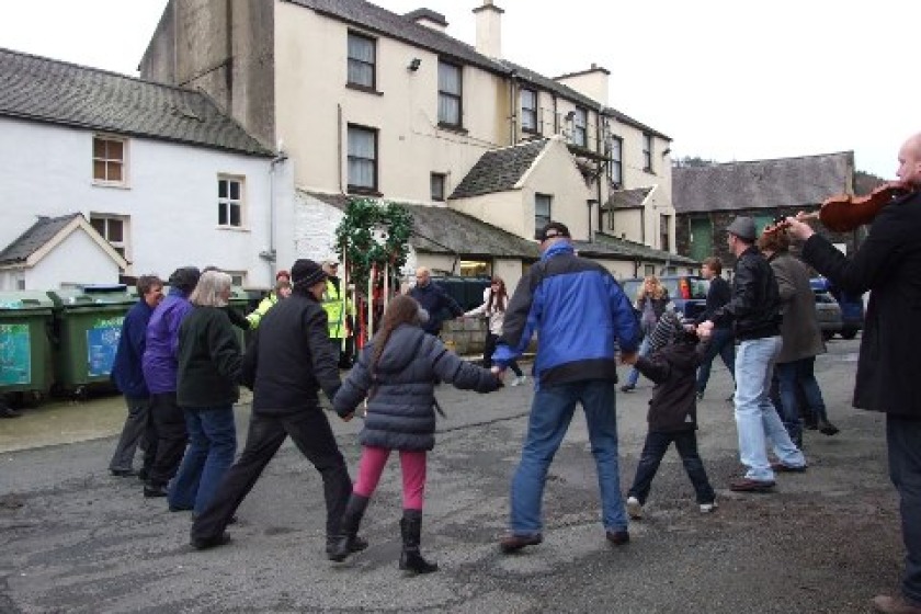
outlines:
[[[123,284],[50,291],[55,304],[56,391],[83,397],[112,388],[110,374],[125,315],[137,296]]]

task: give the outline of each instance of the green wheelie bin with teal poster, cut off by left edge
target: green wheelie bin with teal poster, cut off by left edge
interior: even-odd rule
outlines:
[[[54,303],[43,292],[0,293],[0,394],[32,402],[54,382]]]

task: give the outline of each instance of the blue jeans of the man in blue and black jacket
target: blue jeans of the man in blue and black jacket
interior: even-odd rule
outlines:
[[[515,534],[533,535],[543,527],[541,503],[547,471],[579,402],[585,412],[589,441],[598,467],[602,524],[606,531],[624,531],[627,527],[617,466],[614,382],[590,379],[547,386],[534,393],[521,463],[512,478],[511,525]]]

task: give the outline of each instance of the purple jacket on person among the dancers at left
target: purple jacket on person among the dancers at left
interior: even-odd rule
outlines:
[[[141,367],[151,395],[175,393],[179,368],[179,325],[192,312],[192,304],[179,288],[157,306],[147,325],[147,346]]]

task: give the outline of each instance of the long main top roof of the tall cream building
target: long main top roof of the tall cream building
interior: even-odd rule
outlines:
[[[669,137],[663,134],[632,120],[627,115],[624,115],[614,109],[604,107],[603,101],[592,100],[568,86],[564,86],[562,83],[554,81],[548,77],[544,77],[543,75],[513,61],[485,56],[478,53],[473,45],[462,43],[443,32],[439,32],[413,21],[414,18],[418,16],[417,13],[434,13],[434,11],[429,11],[429,9],[420,9],[418,11],[407,13],[406,15],[399,15],[365,0],[285,1],[307,9],[312,9],[320,14],[351,23],[386,36],[391,36],[410,45],[422,47],[440,55],[453,57],[465,64],[482,68],[484,70],[488,70],[490,72],[502,75],[504,77],[509,77],[512,72],[515,72],[519,79],[531,82],[543,90],[554,92],[567,100],[589,109],[604,109],[604,113],[616,117],[625,124],[634,125],[639,129],[669,139]],[[440,13],[434,14],[440,15]]]

